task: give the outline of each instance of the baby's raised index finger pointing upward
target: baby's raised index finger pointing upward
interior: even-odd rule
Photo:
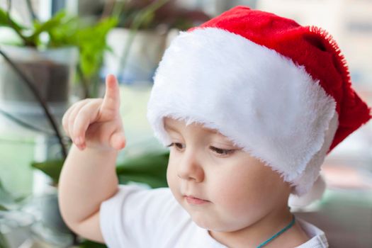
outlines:
[[[102,103],[103,111],[118,111],[120,108],[120,92],[118,80],[113,74],[106,77],[106,92]]]

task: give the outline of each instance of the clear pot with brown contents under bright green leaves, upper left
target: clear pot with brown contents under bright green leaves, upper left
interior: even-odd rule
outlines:
[[[33,82],[45,101],[68,101],[69,85],[77,64],[78,52],[75,47],[39,51],[31,47],[1,45],[1,50]],[[0,60],[0,101],[37,101],[26,82],[4,59]]]

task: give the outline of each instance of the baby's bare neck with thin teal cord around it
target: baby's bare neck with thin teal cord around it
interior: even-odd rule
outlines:
[[[283,227],[286,227],[293,216],[287,206],[267,214],[257,222],[242,230],[235,232],[215,232],[209,234],[221,244],[230,248],[256,248],[262,242],[275,235]],[[296,247],[308,240],[300,225],[295,223],[293,227],[283,232],[264,247]]]

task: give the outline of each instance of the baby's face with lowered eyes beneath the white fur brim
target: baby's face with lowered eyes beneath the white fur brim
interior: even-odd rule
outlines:
[[[173,144],[169,188],[197,225],[234,232],[286,208],[290,187],[270,167],[202,125],[164,123]]]

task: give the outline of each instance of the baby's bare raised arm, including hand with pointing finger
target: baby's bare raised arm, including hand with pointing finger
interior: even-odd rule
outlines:
[[[103,242],[99,207],[118,190],[115,162],[125,146],[119,106],[118,83],[108,76],[103,99],[79,101],[62,119],[74,141],[58,187],[62,218],[74,232],[98,242]]]

